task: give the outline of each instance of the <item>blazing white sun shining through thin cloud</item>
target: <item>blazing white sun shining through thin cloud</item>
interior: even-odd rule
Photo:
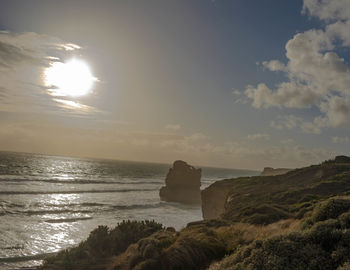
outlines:
[[[83,96],[88,94],[96,78],[88,64],[79,59],[54,62],[45,69],[45,85],[55,96]]]

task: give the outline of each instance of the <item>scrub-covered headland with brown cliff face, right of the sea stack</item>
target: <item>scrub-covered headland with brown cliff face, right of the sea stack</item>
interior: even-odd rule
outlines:
[[[337,157],[283,175],[218,181],[202,191],[203,218],[269,224],[300,217],[320,199],[350,192],[350,162]]]

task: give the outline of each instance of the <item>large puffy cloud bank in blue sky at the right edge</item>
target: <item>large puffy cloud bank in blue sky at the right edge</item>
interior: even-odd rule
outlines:
[[[317,108],[319,115],[313,121],[297,121],[295,126],[304,132],[350,128],[350,69],[337,54],[339,47],[350,47],[350,1],[304,0],[302,12],[324,20],[324,29],[294,35],[286,44],[287,63],[262,62],[272,72],[283,72],[288,80],[273,88],[265,83],[248,85],[244,93],[256,109]]]

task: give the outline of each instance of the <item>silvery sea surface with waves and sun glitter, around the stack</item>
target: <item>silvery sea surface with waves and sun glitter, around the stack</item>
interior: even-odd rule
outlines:
[[[98,225],[155,220],[183,228],[200,206],[162,202],[170,164],[0,152],[0,269],[35,266]],[[202,189],[254,171],[202,167]]]

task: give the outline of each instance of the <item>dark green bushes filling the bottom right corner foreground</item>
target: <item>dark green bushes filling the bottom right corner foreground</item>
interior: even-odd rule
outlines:
[[[300,230],[255,240],[212,269],[350,269],[350,198],[315,208]]]

